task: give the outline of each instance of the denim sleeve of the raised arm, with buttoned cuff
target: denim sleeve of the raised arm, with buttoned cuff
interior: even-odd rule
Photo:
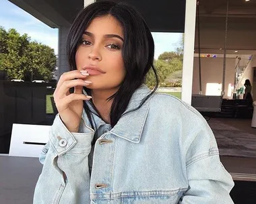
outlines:
[[[69,132],[59,115],[49,132],[49,142],[39,156],[43,165],[34,191],[34,204],[89,203],[88,155],[94,130],[82,119],[79,133]]]

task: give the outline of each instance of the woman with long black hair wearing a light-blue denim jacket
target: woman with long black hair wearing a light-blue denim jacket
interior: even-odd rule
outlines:
[[[150,68],[156,73],[154,41],[135,9],[86,7],[71,25],[67,55],[71,71],[54,93],[59,114],[34,203],[233,203],[205,119],[143,85]]]

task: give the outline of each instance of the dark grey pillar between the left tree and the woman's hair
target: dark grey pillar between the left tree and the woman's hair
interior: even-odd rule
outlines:
[[[69,27],[59,27],[59,56],[58,56],[58,75],[57,78],[63,74],[63,72],[69,71],[69,64],[67,62],[66,45],[67,45],[67,34]]]

